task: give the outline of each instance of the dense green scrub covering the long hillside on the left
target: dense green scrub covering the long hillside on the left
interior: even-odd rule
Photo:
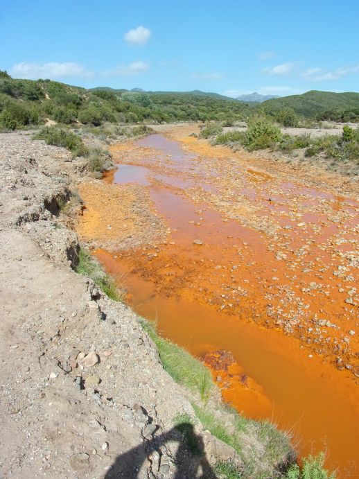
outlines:
[[[86,90],[51,80],[15,80],[0,74],[0,127],[15,130],[51,119],[66,125],[242,120],[245,103],[206,94]]]

